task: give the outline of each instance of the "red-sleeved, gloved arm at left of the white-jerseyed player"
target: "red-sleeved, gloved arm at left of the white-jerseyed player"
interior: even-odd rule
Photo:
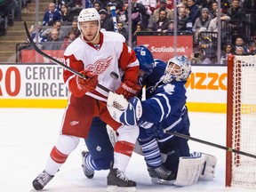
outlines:
[[[63,79],[64,83],[67,85],[68,90],[72,92],[76,97],[84,96],[85,92],[92,92],[95,90],[98,84],[98,75],[92,73],[92,71],[84,70],[84,64],[81,60],[76,60],[74,55],[66,56],[64,55],[65,63],[70,68],[74,68],[84,75],[85,78],[76,76],[68,69],[64,68]]]

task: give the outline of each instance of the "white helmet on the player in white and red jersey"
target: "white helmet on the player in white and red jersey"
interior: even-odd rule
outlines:
[[[99,23],[99,26],[100,26],[100,14],[99,12],[97,12],[96,9],[94,8],[86,8],[86,9],[83,9],[79,15],[78,15],[78,18],[77,18],[77,27],[79,30],[81,30],[80,28],[80,24],[81,22],[84,22],[84,21],[91,21],[91,20],[98,20],[98,23]]]

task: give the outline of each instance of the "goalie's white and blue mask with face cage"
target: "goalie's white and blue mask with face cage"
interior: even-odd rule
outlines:
[[[164,83],[171,82],[172,80],[186,81],[190,73],[191,63],[188,57],[185,55],[177,55],[167,62],[164,72]]]

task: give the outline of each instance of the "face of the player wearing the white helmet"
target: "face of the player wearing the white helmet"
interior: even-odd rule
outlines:
[[[92,41],[98,35],[99,25],[97,20],[84,21],[80,25],[82,33],[88,41]]]

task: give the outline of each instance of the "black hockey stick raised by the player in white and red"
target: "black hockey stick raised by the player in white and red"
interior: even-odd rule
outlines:
[[[30,36],[29,34],[29,31],[28,31],[28,26],[27,26],[27,22],[24,21],[24,27],[25,27],[25,30],[26,30],[26,34],[28,36],[28,40],[29,42],[32,44],[32,46],[34,47],[34,49],[36,50],[36,52],[38,52],[40,55],[44,56],[45,58],[48,58],[49,60],[52,60],[52,62],[54,62],[55,64],[57,65],[60,65],[61,67],[63,68],[66,68],[68,69],[68,71],[70,71],[71,73],[75,74],[76,76],[79,76],[81,78],[84,78],[85,79],[85,76],[81,73],[79,73],[78,71],[76,71],[75,69],[73,68],[69,68],[67,65],[65,65],[64,63],[60,62],[59,60],[56,60],[54,58],[52,58],[50,55],[46,54],[45,52],[42,52],[35,44],[35,42],[33,41],[32,37]],[[113,74],[112,74],[113,73]],[[112,75],[111,75],[112,74]],[[118,76],[115,72],[111,72],[110,76]],[[101,85],[101,84],[97,84],[97,86],[104,90],[105,92],[112,92],[111,90],[109,90],[107,87]]]

